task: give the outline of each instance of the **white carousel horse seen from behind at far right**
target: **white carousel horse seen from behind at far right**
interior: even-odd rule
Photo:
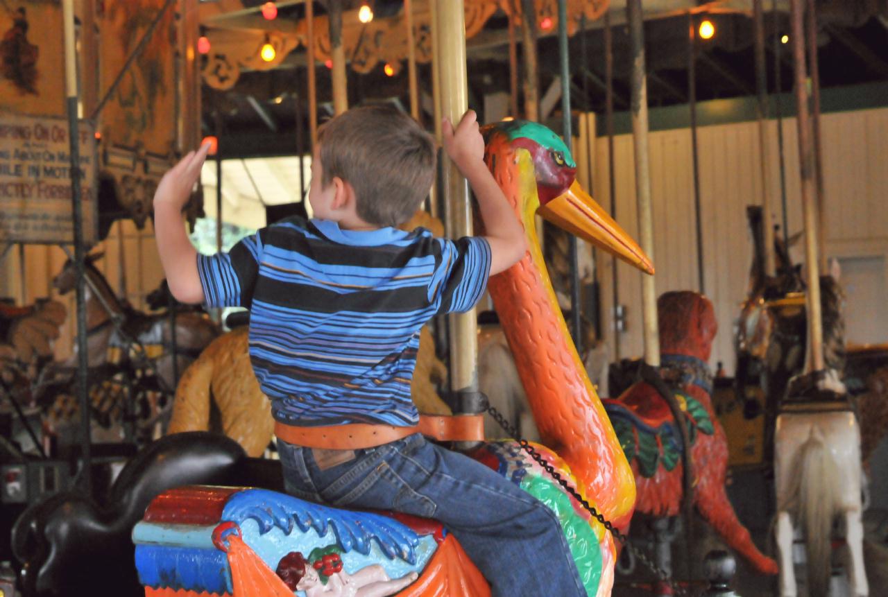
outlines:
[[[819,389],[844,395],[844,387],[831,370]],[[852,595],[866,596],[857,418],[843,403],[794,401],[792,405],[798,410],[781,412],[774,434],[781,597],[797,595],[792,549],[797,528],[805,537],[808,594],[829,593],[836,516],[844,519]]]

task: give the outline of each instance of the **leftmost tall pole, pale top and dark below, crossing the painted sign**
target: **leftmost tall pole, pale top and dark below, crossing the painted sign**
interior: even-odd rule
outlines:
[[[83,258],[83,198],[80,187],[80,130],[77,124],[77,54],[74,33],[74,0],[62,0],[62,19],[65,36],[65,91],[67,96],[67,124],[69,153],[71,158],[71,208],[74,226],[74,263],[77,271],[77,397],[80,402],[81,450],[83,459],[80,469],[83,491],[92,494],[92,453],[90,433],[90,397],[86,388],[88,351],[86,344],[86,278]]]

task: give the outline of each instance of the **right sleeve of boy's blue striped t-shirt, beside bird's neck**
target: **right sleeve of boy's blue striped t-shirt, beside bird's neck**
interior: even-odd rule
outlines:
[[[440,285],[439,313],[464,313],[480,301],[490,276],[490,244],[478,236],[459,240],[440,239],[440,267],[444,269]]]

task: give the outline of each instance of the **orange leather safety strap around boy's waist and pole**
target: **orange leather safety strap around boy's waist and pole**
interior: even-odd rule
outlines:
[[[274,421],[274,435],[288,444],[325,450],[372,448],[417,432],[439,442],[481,442],[484,441],[484,416],[459,414],[447,417],[421,414],[419,425],[413,427],[369,423],[297,427]]]

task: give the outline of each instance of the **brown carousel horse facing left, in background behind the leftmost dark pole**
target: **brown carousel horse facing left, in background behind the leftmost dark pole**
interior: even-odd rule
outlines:
[[[174,379],[176,369],[171,354],[173,329],[170,317],[166,313],[149,315],[133,310],[128,303],[117,298],[107,279],[94,264],[102,255],[104,254],[89,255],[85,260],[88,366],[96,372],[113,372],[120,367],[129,366],[137,373],[135,379],[131,381],[137,384],[144,383],[146,388],[154,389],[156,394],[171,394],[176,387]],[[52,279],[52,286],[60,295],[65,295],[74,289],[75,283],[75,267],[73,262],[68,260],[59,275]],[[217,335],[218,326],[205,314],[196,311],[177,313],[175,366],[178,367],[178,371],[184,371]],[[50,393],[61,394],[59,400],[64,401],[64,395],[71,394],[65,389],[67,385],[73,383],[71,372],[76,366],[76,347],[75,354],[67,361],[53,365],[56,379],[52,381]],[[109,404],[99,410],[117,411],[120,405],[116,403],[123,397],[124,383],[115,380],[106,381],[105,385],[119,391],[109,393],[104,391],[105,388],[97,386],[92,390],[93,403],[95,405],[97,399],[107,398]],[[53,409],[60,411],[64,407],[55,404]],[[150,426],[163,417],[167,410],[169,409],[163,405],[151,407],[151,412],[146,412],[145,416],[141,417],[143,425]],[[110,424],[110,420],[104,422]]]

